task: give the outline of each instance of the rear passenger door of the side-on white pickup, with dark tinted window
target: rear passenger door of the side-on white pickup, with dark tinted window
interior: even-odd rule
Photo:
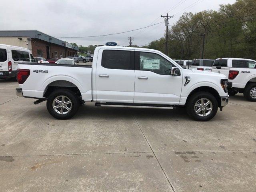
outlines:
[[[100,49],[96,66],[96,101],[133,103],[134,50]]]

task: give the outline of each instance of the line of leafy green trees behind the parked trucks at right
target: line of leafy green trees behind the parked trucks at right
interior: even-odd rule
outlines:
[[[185,12],[168,30],[170,58],[192,60],[224,57],[256,59],[256,0],[236,0],[219,10]],[[166,34],[164,34],[165,36]],[[165,52],[165,38],[143,46]]]

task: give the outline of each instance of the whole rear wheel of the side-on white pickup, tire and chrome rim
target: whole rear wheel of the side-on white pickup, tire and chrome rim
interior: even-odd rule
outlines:
[[[64,102],[63,102],[64,98]],[[58,102],[56,102],[56,100]],[[70,102],[65,105],[65,102]],[[80,103],[76,94],[68,89],[58,89],[50,94],[46,106],[48,112],[56,119],[69,119],[74,116]],[[53,107],[57,108],[53,108]],[[68,111],[69,109],[69,111]]]

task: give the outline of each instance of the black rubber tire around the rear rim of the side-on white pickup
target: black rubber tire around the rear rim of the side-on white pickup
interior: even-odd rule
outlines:
[[[54,99],[57,98],[57,97],[61,97],[61,96],[65,96],[66,100],[70,100],[71,101],[71,105],[70,104],[67,104],[67,107],[70,108],[70,111],[67,112],[68,110],[66,110],[66,108],[63,108],[62,110],[62,114],[56,112],[53,108],[53,102],[54,102]],[[47,110],[48,112],[56,119],[69,119],[71,118],[72,116],[74,116],[78,110],[78,107],[80,105],[80,103],[78,102],[78,97],[76,96],[76,94],[68,89],[58,89],[58,90],[55,90],[54,92],[52,92],[50,94],[50,96],[48,97],[47,99],[47,102],[46,102],[46,106],[47,106]],[[57,102],[55,102],[56,105]],[[61,105],[61,104],[60,104]],[[64,107],[64,106],[62,106]],[[58,108],[56,110],[61,110],[61,108]],[[65,112],[67,112],[66,114],[64,114]]]

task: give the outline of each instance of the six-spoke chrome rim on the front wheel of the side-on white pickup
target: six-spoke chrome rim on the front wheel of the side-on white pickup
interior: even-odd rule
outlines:
[[[212,112],[212,102],[209,99],[201,98],[195,103],[194,110],[201,117],[208,116]]]

